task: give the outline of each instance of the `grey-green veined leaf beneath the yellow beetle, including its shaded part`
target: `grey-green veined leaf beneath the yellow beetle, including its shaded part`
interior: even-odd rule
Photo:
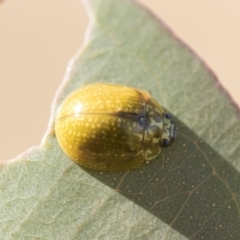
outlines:
[[[1,239],[240,239],[239,109],[138,3],[85,5],[91,29],[57,91],[41,146],[1,162]],[[92,82],[149,91],[175,117],[173,146],[131,171],[72,162],[54,119],[72,90]]]

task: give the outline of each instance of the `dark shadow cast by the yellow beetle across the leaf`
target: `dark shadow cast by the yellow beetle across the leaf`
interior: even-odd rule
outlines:
[[[240,174],[176,117],[178,136],[139,169],[94,178],[189,239],[240,239]]]

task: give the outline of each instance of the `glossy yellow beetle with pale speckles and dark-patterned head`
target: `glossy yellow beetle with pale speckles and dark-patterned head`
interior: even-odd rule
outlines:
[[[138,168],[176,137],[170,114],[149,93],[116,84],[86,85],[58,109],[55,133],[80,166],[99,171]]]

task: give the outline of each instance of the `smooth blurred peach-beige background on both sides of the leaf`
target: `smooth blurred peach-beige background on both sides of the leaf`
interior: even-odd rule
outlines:
[[[206,62],[240,106],[240,1],[140,2]],[[87,24],[79,0],[0,0],[0,160],[40,143]]]

